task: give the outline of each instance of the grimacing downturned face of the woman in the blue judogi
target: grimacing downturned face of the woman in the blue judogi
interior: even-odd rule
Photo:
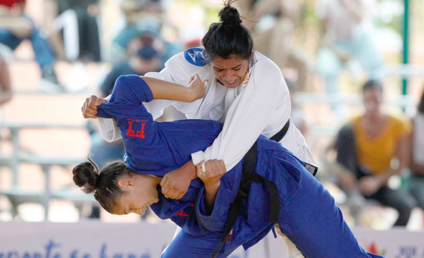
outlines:
[[[158,177],[138,174],[119,179],[118,185],[123,190],[123,194],[114,208],[114,214],[145,214],[149,205],[159,201],[156,188],[159,181]]]

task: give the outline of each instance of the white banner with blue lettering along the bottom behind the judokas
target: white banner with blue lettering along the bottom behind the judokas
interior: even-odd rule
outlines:
[[[424,231],[354,229],[360,244],[387,258],[424,258]],[[0,222],[0,258],[153,258],[171,242],[169,223]],[[340,256],[341,257],[341,256]],[[270,233],[229,258],[286,258],[280,238]]]

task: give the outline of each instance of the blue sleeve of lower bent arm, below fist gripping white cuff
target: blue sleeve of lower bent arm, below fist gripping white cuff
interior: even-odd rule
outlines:
[[[233,199],[231,196],[233,195],[233,191],[229,190],[223,183],[221,183],[218,192],[216,193],[212,213],[207,214],[205,207],[205,187],[203,186],[197,196],[195,204],[196,216],[199,219],[199,223],[209,231],[222,231],[224,229],[225,222],[227,221],[229,205]]]

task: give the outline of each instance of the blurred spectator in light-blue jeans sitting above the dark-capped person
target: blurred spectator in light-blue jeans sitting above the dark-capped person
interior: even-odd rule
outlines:
[[[111,60],[114,64],[125,62],[131,55],[134,38],[150,34],[153,45],[161,55],[161,68],[166,60],[182,51],[179,44],[167,42],[160,36],[162,30],[162,2],[160,0],[123,0],[121,10],[125,16],[125,27],[119,31],[112,42]]]

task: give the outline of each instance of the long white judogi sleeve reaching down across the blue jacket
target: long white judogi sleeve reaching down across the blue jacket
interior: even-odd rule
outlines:
[[[277,105],[286,107],[284,114],[275,114]],[[290,96],[279,68],[269,60],[259,60],[253,66],[244,91],[229,107],[221,133],[205,151],[192,153],[192,162],[199,164],[202,160],[223,159],[227,171],[231,170],[249,151],[273,116],[284,121],[277,125],[281,129],[290,117],[290,110]]]

